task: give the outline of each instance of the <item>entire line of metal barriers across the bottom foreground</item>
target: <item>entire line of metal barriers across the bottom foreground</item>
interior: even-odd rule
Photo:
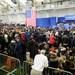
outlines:
[[[23,62],[23,71],[20,60],[0,53],[0,75],[30,75],[31,63]],[[2,73],[1,73],[2,71]],[[71,72],[57,68],[45,68],[43,75],[73,75]]]

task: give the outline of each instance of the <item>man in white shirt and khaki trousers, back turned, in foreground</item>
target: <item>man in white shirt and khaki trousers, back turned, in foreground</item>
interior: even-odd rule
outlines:
[[[37,54],[34,58],[32,65],[31,75],[43,75],[44,67],[48,67],[48,59],[44,55],[45,50],[41,50],[40,54]]]

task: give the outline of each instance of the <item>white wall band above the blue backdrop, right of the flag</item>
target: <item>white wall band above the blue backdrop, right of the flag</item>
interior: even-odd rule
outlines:
[[[65,15],[75,15],[75,8],[67,8],[67,9],[51,9],[47,11],[38,11],[37,12],[37,17],[44,18],[44,17],[61,17]]]

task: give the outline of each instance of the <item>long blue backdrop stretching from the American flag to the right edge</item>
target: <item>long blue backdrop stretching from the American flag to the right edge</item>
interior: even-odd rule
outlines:
[[[69,21],[75,21],[75,15],[67,15],[64,17],[50,17],[50,18],[37,18],[36,25],[37,27],[44,27],[44,28],[55,28],[56,23],[62,23]],[[68,25],[64,25],[65,28],[69,28]]]

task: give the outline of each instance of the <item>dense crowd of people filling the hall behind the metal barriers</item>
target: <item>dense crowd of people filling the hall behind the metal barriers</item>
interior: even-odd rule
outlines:
[[[75,33],[72,30],[0,25],[0,53],[18,58],[22,63],[27,59],[27,52],[34,61],[32,68],[35,68],[35,61],[40,60],[39,64],[42,64],[47,57],[45,67],[60,68],[72,73],[75,71],[72,69],[75,68]],[[39,58],[37,55],[40,53],[46,57]]]

